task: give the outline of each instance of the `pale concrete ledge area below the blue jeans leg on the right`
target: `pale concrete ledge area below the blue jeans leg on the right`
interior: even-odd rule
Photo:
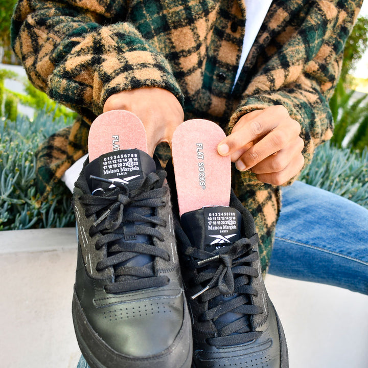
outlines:
[[[368,296],[266,275],[283,324],[290,368],[366,368]]]

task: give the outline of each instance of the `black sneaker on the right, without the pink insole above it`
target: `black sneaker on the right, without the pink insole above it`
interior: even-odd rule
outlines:
[[[175,233],[193,319],[193,367],[287,368],[284,331],[262,280],[254,220],[236,196],[230,207],[176,218]]]

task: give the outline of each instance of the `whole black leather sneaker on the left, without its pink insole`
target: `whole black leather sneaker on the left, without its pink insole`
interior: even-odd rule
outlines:
[[[170,194],[158,166],[143,151],[114,151],[87,164],[75,184],[73,321],[91,368],[191,366]]]

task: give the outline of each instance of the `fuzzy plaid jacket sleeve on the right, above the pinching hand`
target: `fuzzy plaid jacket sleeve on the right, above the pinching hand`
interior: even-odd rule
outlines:
[[[360,0],[312,3],[301,26],[286,27],[279,35],[281,49],[250,81],[229,124],[232,129],[250,111],[283,105],[301,124],[305,165],[310,163],[314,148],[332,136],[329,100],[341,70],[344,43],[361,6]],[[279,11],[272,21],[278,22],[278,16],[285,15]],[[274,45],[266,53],[272,54],[271,48]],[[257,181],[251,173],[243,175],[243,180]]]

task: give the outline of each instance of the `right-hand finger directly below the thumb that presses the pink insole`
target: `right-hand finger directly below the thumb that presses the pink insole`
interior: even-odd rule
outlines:
[[[272,130],[243,153],[237,160],[236,167],[238,170],[244,171],[256,166],[266,157],[287,147],[290,139],[291,134],[286,129]]]

